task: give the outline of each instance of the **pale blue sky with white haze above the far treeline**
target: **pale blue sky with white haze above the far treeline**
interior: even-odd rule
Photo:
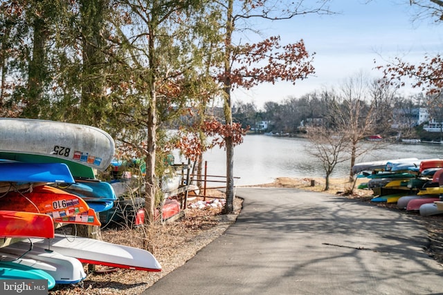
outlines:
[[[365,3],[368,2],[368,3]],[[332,0],[335,15],[296,16],[290,20],[260,23],[262,37],[280,35],[281,44],[305,41],[314,55],[316,73],[308,79],[261,84],[250,91],[235,89],[233,101],[282,102],[314,91],[335,89],[359,73],[369,79],[381,77],[374,66],[385,65],[394,57],[419,63],[425,55],[443,51],[443,23],[433,19],[415,20],[408,0]],[[257,40],[256,40],[257,41]],[[374,60],[377,61],[374,64]],[[417,93],[401,88],[400,93]]]

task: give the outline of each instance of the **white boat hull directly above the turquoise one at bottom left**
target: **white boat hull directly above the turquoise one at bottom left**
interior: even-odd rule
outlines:
[[[47,251],[41,247],[33,247],[29,250],[29,245],[25,243],[14,243],[8,247],[0,249],[1,256],[6,259],[13,259],[13,263],[28,265],[36,269],[42,269],[50,274],[56,284],[75,284],[86,278],[82,263],[76,258],[64,256],[56,251]],[[3,260],[6,260],[3,259]]]

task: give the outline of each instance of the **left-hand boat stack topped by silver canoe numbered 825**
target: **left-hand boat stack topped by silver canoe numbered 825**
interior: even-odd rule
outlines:
[[[84,280],[83,263],[161,271],[144,249],[55,233],[100,226],[116,193],[94,169],[107,169],[114,149],[91,126],[0,118],[0,279],[46,279],[51,289]]]

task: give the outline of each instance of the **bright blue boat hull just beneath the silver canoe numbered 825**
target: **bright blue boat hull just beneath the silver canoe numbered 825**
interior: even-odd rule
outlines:
[[[0,182],[75,182],[71,171],[62,163],[0,162]]]

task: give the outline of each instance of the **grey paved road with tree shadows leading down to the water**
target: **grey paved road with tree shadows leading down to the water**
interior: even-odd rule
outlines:
[[[412,218],[324,193],[242,188],[237,222],[143,294],[443,294]]]

